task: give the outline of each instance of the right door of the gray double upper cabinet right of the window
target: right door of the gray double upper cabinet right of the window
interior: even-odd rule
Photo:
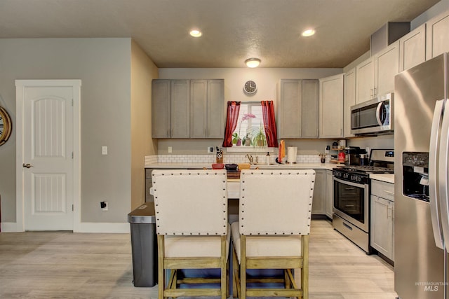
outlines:
[[[319,81],[302,80],[302,138],[318,138]]]

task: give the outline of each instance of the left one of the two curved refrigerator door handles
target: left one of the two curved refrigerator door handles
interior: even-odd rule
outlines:
[[[438,196],[438,149],[440,149],[440,128],[441,119],[443,118],[443,104],[444,100],[436,101],[434,118],[432,118],[432,127],[430,133],[430,146],[429,146],[429,201],[430,201],[430,214],[432,221],[432,228],[434,231],[435,244],[438,248],[444,249],[444,234],[441,224],[440,207],[443,194]],[[443,136],[443,135],[441,135]]]

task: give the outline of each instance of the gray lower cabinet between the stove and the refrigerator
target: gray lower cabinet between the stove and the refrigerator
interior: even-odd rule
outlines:
[[[394,261],[394,184],[371,180],[371,246]]]

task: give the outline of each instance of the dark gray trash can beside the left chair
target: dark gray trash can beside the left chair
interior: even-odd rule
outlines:
[[[157,283],[157,238],[154,202],[145,202],[128,214],[131,226],[134,286]]]

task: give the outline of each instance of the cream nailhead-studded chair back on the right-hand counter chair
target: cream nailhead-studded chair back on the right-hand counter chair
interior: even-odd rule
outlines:
[[[309,235],[313,169],[241,171],[239,231],[242,235]]]

